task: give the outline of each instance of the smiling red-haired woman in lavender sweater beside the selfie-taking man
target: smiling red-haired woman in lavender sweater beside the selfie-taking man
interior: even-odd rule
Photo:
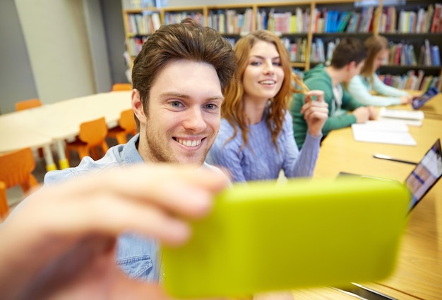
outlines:
[[[294,89],[294,82],[302,82],[292,73],[287,49],[270,31],[241,37],[234,51],[237,80],[226,88],[220,132],[206,161],[227,168],[234,182],[277,179],[281,170],[286,177],[310,177],[328,115],[323,92]],[[301,151],[289,113],[293,92],[309,99],[303,106],[309,134]]]

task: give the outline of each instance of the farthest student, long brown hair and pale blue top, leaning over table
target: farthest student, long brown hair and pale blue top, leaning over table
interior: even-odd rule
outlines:
[[[369,37],[364,42],[367,49],[364,66],[361,73],[350,80],[348,92],[357,101],[366,105],[389,106],[398,104],[410,104],[412,96],[407,92],[384,84],[376,75],[376,70],[388,61],[390,50],[388,40],[381,35]],[[371,94],[375,92],[376,95]]]

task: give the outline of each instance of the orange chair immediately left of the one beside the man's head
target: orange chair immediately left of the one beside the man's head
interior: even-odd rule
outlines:
[[[106,142],[107,124],[104,117],[91,120],[80,125],[80,133],[73,142],[66,143],[66,158],[69,160],[70,152],[78,152],[80,159],[92,154],[92,158],[101,158],[109,149]],[[98,155],[97,149],[102,150],[102,155]]]

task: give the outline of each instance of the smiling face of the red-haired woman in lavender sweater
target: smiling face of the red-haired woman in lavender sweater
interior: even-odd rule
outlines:
[[[269,42],[256,42],[242,77],[244,98],[263,101],[273,98],[280,91],[284,77],[276,46]]]

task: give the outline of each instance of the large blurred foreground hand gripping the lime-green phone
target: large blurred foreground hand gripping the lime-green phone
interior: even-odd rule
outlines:
[[[0,224],[1,299],[169,299],[115,265],[117,236],[183,244],[226,185],[219,172],[142,164],[42,187]]]

